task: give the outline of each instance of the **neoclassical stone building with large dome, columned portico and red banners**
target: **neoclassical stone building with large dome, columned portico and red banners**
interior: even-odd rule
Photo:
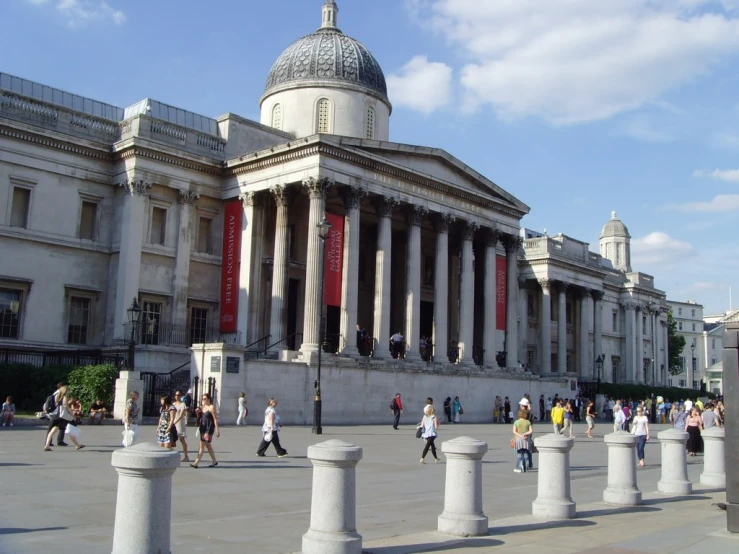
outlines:
[[[382,69],[337,16],[326,0],[279,56],[261,122],[0,74],[0,348],[119,345],[136,298],[142,370],[217,341],[311,363],[323,311],[339,359],[358,356],[359,325],[376,360],[400,332],[408,367],[448,365],[456,345],[463,367],[505,352],[509,369],[593,380],[604,355],[604,380],[662,380],[664,294],[631,272],[625,226],[606,225],[600,254],[522,236],[516,196],[390,142]]]

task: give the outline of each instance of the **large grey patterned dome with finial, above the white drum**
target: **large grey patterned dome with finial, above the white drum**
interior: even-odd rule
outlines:
[[[330,1],[326,9],[338,11]],[[333,22],[324,19],[324,26],[315,33],[288,46],[269,72],[262,99],[291,88],[328,86],[366,92],[390,105],[380,64],[361,42],[342,33]]]

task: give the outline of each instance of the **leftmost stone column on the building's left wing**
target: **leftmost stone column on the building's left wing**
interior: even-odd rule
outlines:
[[[146,195],[151,183],[144,179],[129,176],[119,183],[125,194],[121,215],[121,242],[118,253],[118,272],[115,293],[115,316],[113,319],[113,338],[128,342],[125,324],[128,323],[128,308],[134,298],[139,296],[141,277],[141,244],[146,228]]]

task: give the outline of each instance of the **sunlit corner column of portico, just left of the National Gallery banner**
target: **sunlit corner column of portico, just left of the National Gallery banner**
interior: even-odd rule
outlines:
[[[308,256],[305,268],[305,309],[303,311],[303,345],[300,353],[309,363],[318,353],[321,327],[321,278],[323,276],[323,241],[318,226],[326,212],[326,193],[333,186],[328,179],[309,177],[303,186],[310,194],[308,216]],[[273,338],[274,340],[274,338]]]

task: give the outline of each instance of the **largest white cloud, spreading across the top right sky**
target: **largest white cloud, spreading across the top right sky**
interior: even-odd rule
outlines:
[[[735,0],[410,0],[460,47],[467,107],[555,124],[658,101],[739,52]]]

